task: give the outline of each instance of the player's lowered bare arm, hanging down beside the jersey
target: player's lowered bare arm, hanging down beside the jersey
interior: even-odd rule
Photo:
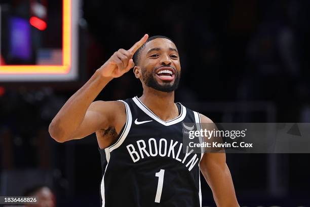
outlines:
[[[200,117],[202,123],[213,123],[204,115],[200,115]],[[225,153],[205,153],[200,161],[200,170],[212,190],[217,206],[239,206],[230,171],[226,164]]]

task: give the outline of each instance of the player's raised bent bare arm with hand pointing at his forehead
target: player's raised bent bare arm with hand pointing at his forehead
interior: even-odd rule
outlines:
[[[81,139],[115,124],[117,111],[124,107],[123,103],[93,101],[109,81],[121,77],[134,66],[132,56],[147,38],[145,34],[129,50],[120,49],[115,52],[89,81],[66,101],[49,126],[53,139],[57,142]]]

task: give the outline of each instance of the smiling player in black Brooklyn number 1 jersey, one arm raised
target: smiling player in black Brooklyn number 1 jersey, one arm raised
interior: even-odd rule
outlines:
[[[94,101],[109,81],[133,67],[142,96]],[[212,121],[174,103],[180,72],[175,44],[145,34],[129,50],[115,52],[51,122],[49,132],[57,142],[96,132],[102,206],[201,206],[199,170],[217,206],[239,206],[224,153],[181,150],[182,123]]]

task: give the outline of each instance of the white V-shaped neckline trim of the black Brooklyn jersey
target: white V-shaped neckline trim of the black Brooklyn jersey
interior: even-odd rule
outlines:
[[[147,115],[150,116],[152,119],[156,120],[157,122],[159,122],[159,123],[161,123],[161,124],[163,124],[163,125],[165,125],[165,126],[171,126],[171,125],[173,125],[173,124],[176,124],[176,123],[182,121],[182,120],[185,118],[185,116],[186,116],[186,108],[185,108],[183,105],[181,105],[181,103],[180,103],[180,105],[181,105],[181,113],[180,113],[180,115],[179,115],[178,117],[176,117],[176,118],[170,120],[170,121],[164,121],[164,120],[162,120],[161,118],[159,118],[158,116],[156,116],[156,114],[154,114],[151,110],[149,110],[149,109],[139,100],[139,98],[138,98],[137,96],[136,96],[136,97],[133,97],[132,99],[133,99],[133,101],[136,103],[136,105],[137,105],[145,114],[147,114]]]

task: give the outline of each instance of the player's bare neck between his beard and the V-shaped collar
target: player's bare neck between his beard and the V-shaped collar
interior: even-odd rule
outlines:
[[[139,99],[164,121],[169,121],[179,115],[174,103],[174,91],[162,92],[150,87],[144,87],[143,94]]]

